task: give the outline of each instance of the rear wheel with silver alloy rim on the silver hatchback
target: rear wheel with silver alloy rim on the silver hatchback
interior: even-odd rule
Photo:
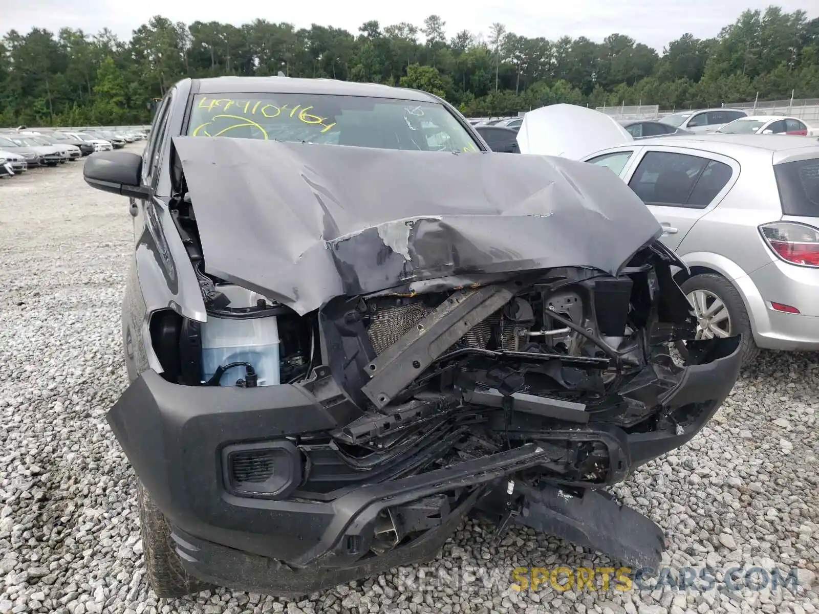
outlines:
[[[701,273],[686,279],[685,282],[682,282],[680,288],[685,292],[689,301],[695,300],[698,303],[698,305],[694,306],[698,319],[703,311],[703,300],[706,313],[713,308],[717,300],[724,305],[724,310],[717,307],[717,310],[711,313],[711,317],[716,316],[717,319],[712,320],[707,329],[698,324],[698,339],[721,336],[720,332],[727,332],[728,335],[741,334],[740,355],[742,356],[742,366],[747,366],[753,362],[753,359],[756,359],[759,348],[753,342],[753,331],[748,311],[745,309],[742,296],[731,282],[716,273]],[[723,313],[726,314],[727,318],[720,318]],[[688,359],[688,350],[686,350],[686,346],[682,341],[676,342],[676,349],[679,350],[683,358]]]

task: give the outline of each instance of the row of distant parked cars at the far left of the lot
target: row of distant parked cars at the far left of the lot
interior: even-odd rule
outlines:
[[[144,138],[146,133],[139,131],[0,129],[0,177],[25,173],[38,166],[65,164],[94,151],[119,149]]]

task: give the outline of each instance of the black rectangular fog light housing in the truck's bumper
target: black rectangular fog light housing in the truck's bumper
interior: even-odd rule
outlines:
[[[284,499],[301,483],[301,454],[287,440],[226,446],[222,467],[226,490],[239,497]]]

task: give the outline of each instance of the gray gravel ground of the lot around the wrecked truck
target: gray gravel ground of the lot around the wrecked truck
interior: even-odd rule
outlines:
[[[611,562],[517,528],[495,546],[490,524],[468,521],[426,566],[297,603],[225,589],[158,600],[143,580],[133,472],[104,418],[127,386],[131,218],[81,167],[0,180],[0,614],[819,612],[819,354],[765,353],[690,445],[616,493],[666,531],[668,566],[708,565],[718,580],[730,567],[796,567],[799,586],[514,590],[514,567]]]

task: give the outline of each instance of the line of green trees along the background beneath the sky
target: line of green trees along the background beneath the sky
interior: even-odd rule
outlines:
[[[10,30],[0,39],[0,125],[141,124],[152,101],[183,77],[324,77],[419,88],[467,115],[504,115],[569,102],[657,104],[819,97],[819,18],[780,7],[744,11],[716,38],[691,34],[658,54],[623,34],[527,38],[492,24],[486,36],[448,38],[441,17],[423,26],[346,29],[255,20],[190,25],[155,16],[128,41],[109,29]]]

